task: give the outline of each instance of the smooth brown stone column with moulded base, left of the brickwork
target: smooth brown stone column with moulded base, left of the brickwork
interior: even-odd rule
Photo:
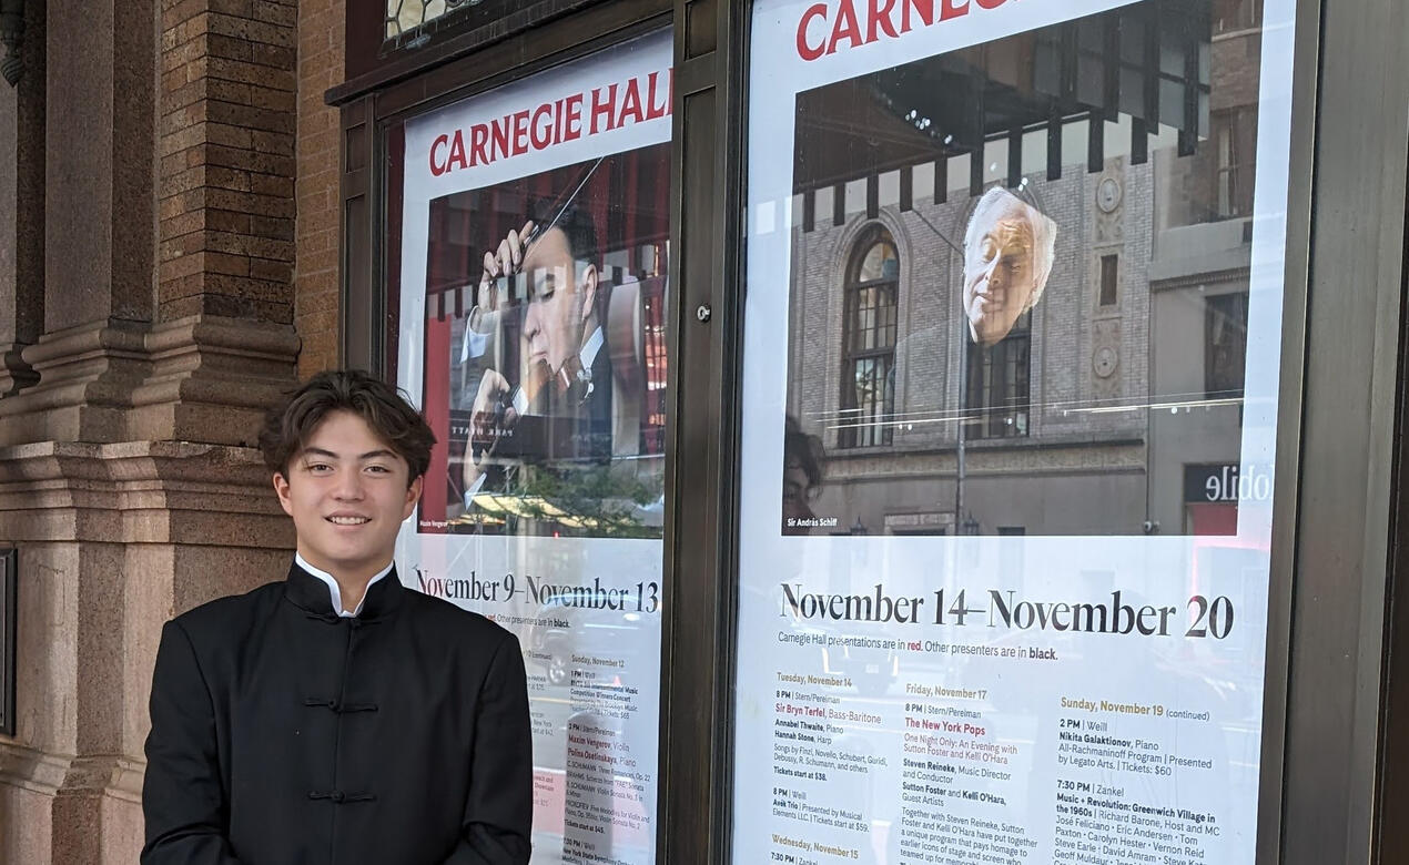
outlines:
[[[45,18],[39,382],[0,400],[0,442],[120,437],[152,313],[152,0]]]

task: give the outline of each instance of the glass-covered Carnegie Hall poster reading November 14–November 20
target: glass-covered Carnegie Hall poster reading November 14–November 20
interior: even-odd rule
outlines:
[[[755,0],[733,861],[1253,861],[1292,7]]]

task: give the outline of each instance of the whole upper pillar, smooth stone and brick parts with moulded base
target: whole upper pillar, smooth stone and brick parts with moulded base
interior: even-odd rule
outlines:
[[[297,354],[294,18],[51,7],[39,380],[0,402],[0,445],[252,441]]]

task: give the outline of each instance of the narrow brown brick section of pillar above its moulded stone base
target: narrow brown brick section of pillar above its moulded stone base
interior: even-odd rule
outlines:
[[[296,15],[272,0],[165,3],[163,321],[293,321]]]

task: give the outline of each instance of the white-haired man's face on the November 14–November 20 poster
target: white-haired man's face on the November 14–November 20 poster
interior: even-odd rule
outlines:
[[[1010,194],[974,214],[964,248],[964,314],[975,342],[992,345],[1013,330],[1037,286],[1033,221]]]

